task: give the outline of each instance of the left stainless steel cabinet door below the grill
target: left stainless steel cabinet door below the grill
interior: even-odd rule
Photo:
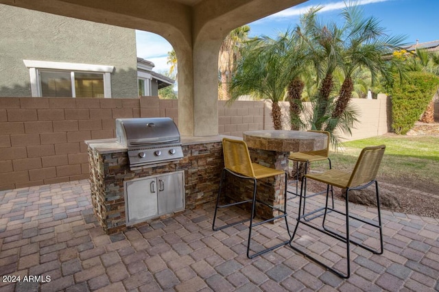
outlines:
[[[143,178],[126,182],[128,224],[158,215],[157,180]]]

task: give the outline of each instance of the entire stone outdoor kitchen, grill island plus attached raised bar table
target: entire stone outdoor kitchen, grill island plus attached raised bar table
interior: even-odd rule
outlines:
[[[107,234],[216,199],[225,136],[180,136],[170,118],[115,123],[116,138],[86,141],[91,201]],[[289,151],[321,149],[325,138],[299,131],[244,132],[253,162],[285,171]],[[259,199],[281,206],[283,184],[283,178],[258,182]],[[230,178],[227,197],[245,197],[250,189],[250,182]],[[269,219],[275,214],[270,208],[257,208],[257,216]]]

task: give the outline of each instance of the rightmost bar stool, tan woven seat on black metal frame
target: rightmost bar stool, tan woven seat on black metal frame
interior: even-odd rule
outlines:
[[[289,246],[292,247],[293,250],[295,250],[296,252],[299,252],[300,254],[302,254],[303,256],[310,258],[311,260],[313,260],[314,262],[318,263],[319,265],[322,265],[323,267],[325,267],[326,269],[328,269],[329,271],[335,273],[337,276],[340,276],[341,278],[349,278],[351,276],[351,250],[350,250],[350,243],[353,243],[354,245],[357,245],[359,247],[362,247],[365,250],[368,250],[369,252],[372,252],[373,254],[383,254],[383,227],[382,227],[382,222],[381,222],[381,208],[380,208],[380,201],[379,201],[379,186],[378,186],[378,182],[375,179],[376,175],[377,175],[377,170],[379,168],[379,164],[381,163],[381,159],[383,157],[383,153],[385,150],[385,145],[380,145],[380,146],[376,146],[376,147],[366,147],[361,151],[361,154],[357,160],[357,164],[355,165],[355,169],[352,173],[345,173],[343,171],[337,171],[335,169],[327,171],[326,173],[322,173],[322,174],[317,174],[317,175],[305,175],[302,178],[302,187],[300,188],[300,193],[302,193],[303,191],[303,186],[304,180],[307,180],[307,178],[311,178],[313,180],[319,180],[321,182],[330,182],[330,177],[331,176],[336,176],[336,175],[342,175],[344,176],[344,183],[341,184],[334,184],[335,186],[338,187],[346,187],[346,197],[345,197],[345,211],[342,212],[340,210],[336,210],[335,208],[329,208],[328,207],[328,202],[329,202],[329,183],[327,185],[327,197],[326,197],[326,202],[325,202],[325,211],[324,211],[324,217],[323,217],[323,222],[322,222],[322,228],[319,228],[307,221],[305,221],[305,217],[307,216],[307,214],[305,215],[300,215],[300,211],[302,208],[302,196],[300,196],[300,202],[299,202],[299,210],[298,210],[298,217],[297,217],[297,223],[296,223],[296,228],[294,228],[294,232],[293,235],[289,241]],[[375,151],[377,153],[377,156],[375,156],[375,159],[373,162],[371,162],[372,164],[375,163],[375,169],[372,170],[372,174],[369,176],[370,180],[367,180],[367,182],[361,181],[361,178],[359,180],[357,180],[357,183],[355,183],[355,175],[357,171],[361,171],[361,165],[364,165],[364,161],[363,158],[366,155],[367,151]],[[320,176],[320,177],[319,177]],[[358,183],[360,182],[360,183]],[[376,193],[376,197],[377,197],[377,215],[378,215],[378,222],[376,221],[372,221],[372,220],[366,220],[365,218],[361,218],[361,217],[357,217],[357,216],[353,216],[349,214],[349,191],[352,190],[361,190],[363,188],[367,188],[368,186],[375,184],[375,193]],[[306,190],[305,190],[306,191]],[[325,221],[327,219],[327,213],[333,211],[333,212],[337,212],[340,215],[344,215],[345,220],[346,220],[346,234],[340,234],[339,232],[335,232],[333,230],[331,230],[330,228],[327,228],[324,224]],[[369,226],[378,228],[379,230],[379,244],[380,247],[379,249],[372,249],[371,247],[368,247],[366,245],[364,245],[363,243],[360,243],[359,241],[354,241],[353,239],[350,238],[350,230],[349,230],[349,219],[355,219],[357,221],[361,221],[362,223],[365,223]],[[338,271],[337,269],[334,269],[333,267],[323,263],[321,260],[318,260],[318,258],[311,256],[309,254],[307,254],[306,252],[304,252],[303,250],[300,250],[298,247],[295,247],[294,245],[292,245],[292,242],[294,241],[294,236],[296,235],[296,232],[298,230],[298,226],[299,224],[305,224],[305,226],[308,226],[310,228],[313,228],[314,230],[320,231],[324,234],[327,234],[331,237],[333,237],[334,239],[337,239],[338,241],[342,241],[343,243],[346,243],[346,273],[342,273],[341,271]]]

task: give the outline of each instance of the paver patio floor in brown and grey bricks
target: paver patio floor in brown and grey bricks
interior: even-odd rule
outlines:
[[[307,204],[323,202],[317,196]],[[214,232],[213,207],[108,236],[93,214],[87,180],[0,191],[0,291],[439,290],[437,219],[383,210],[383,254],[352,246],[352,276],[344,280],[288,246],[248,259],[246,226]],[[291,230],[297,208],[298,198],[289,200]],[[353,205],[353,212],[376,216],[375,208],[364,206]],[[246,216],[224,210],[219,219],[235,214]],[[340,217],[329,223],[335,226]],[[374,230],[352,226],[353,236],[377,245],[366,239]],[[295,244],[343,269],[340,242],[302,225],[296,236]],[[253,239],[254,250],[285,240],[285,223],[259,226]],[[18,276],[20,282],[12,282]]]

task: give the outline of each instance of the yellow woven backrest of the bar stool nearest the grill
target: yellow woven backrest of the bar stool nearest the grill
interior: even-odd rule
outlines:
[[[250,159],[246,142],[223,138],[222,151],[224,154],[224,167],[226,169],[254,178],[252,160]]]

